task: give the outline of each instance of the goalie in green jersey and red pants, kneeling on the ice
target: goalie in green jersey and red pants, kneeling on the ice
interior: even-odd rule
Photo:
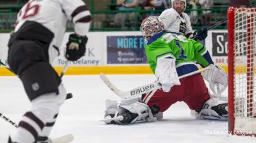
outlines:
[[[146,40],[146,55],[161,89],[143,94],[141,98],[106,101],[105,119],[108,124],[129,124],[155,121],[162,118],[172,104],[184,101],[200,119],[227,120],[227,101],[214,98],[203,78],[209,82],[215,96],[227,88],[227,74],[214,65],[204,45],[186,36],[164,31],[157,16],[143,20],[140,26]],[[210,66],[202,74],[179,80],[178,77]]]

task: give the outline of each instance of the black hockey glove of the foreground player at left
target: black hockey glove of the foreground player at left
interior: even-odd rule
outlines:
[[[76,34],[69,35],[65,57],[69,61],[77,61],[86,53],[87,36],[78,36]]]

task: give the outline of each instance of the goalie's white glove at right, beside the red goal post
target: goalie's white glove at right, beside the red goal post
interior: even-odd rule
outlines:
[[[227,74],[218,66],[210,65],[211,69],[203,72],[203,78],[209,82],[214,94],[220,95],[227,88]]]

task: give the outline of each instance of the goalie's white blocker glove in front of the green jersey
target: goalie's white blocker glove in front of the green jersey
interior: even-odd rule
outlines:
[[[181,85],[176,71],[176,62],[173,58],[158,58],[155,75],[164,92],[169,92],[173,85]]]

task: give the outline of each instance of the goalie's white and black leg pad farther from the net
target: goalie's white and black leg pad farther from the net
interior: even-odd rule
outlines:
[[[106,100],[105,123],[128,124],[154,121],[151,109],[141,102],[119,104],[117,101]],[[112,120],[111,120],[112,119]]]

